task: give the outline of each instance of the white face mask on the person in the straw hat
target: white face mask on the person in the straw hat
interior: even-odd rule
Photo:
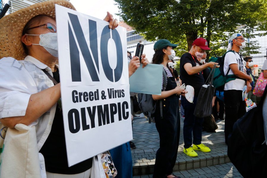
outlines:
[[[26,35],[39,36],[40,37],[39,44],[32,44],[32,45],[40,45],[44,47],[48,53],[58,58],[57,33],[47,33],[47,34],[40,34],[40,35],[26,34]]]

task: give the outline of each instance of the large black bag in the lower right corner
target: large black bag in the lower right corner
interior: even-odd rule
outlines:
[[[267,175],[267,145],[262,114],[266,93],[267,87],[258,106],[238,119],[228,136],[227,155],[244,178]]]

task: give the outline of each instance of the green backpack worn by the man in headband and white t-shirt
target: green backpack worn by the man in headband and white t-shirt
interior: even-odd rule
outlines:
[[[233,50],[229,50],[226,53],[228,53],[228,52],[235,53]],[[224,58],[225,58],[226,53],[224,53],[224,55],[222,55],[222,57],[211,57],[209,59],[209,62],[216,62],[216,63],[219,63],[219,65],[220,65],[219,68],[215,68],[214,77],[213,77],[213,86],[218,91],[224,90],[225,83],[227,83],[231,80],[241,79],[241,78],[235,76],[234,74],[228,75],[228,73],[230,71],[230,67],[229,67],[226,75],[224,74],[223,66],[224,66]]]

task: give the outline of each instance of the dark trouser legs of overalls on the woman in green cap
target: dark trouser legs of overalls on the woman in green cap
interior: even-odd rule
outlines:
[[[156,153],[153,178],[165,178],[173,172],[179,146],[180,115],[177,96],[163,101],[163,118],[160,118],[158,101],[155,124],[160,137],[160,147]]]

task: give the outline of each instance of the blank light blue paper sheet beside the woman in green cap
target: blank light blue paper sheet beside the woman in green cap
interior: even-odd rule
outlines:
[[[129,78],[130,92],[161,95],[163,65],[141,66]]]

